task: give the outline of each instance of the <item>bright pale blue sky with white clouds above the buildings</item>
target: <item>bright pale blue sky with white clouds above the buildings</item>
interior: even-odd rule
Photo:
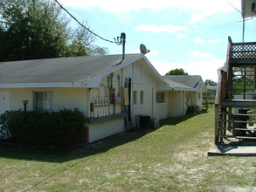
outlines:
[[[114,40],[127,35],[126,53],[146,55],[156,70],[164,75],[183,68],[191,75],[218,81],[218,68],[224,65],[228,36],[241,42],[240,0],[59,0],[95,33]],[[232,5],[231,5],[232,4]],[[256,24],[246,22],[246,41],[255,41]],[[121,46],[96,38],[96,45],[107,47],[109,54],[121,54]]]

